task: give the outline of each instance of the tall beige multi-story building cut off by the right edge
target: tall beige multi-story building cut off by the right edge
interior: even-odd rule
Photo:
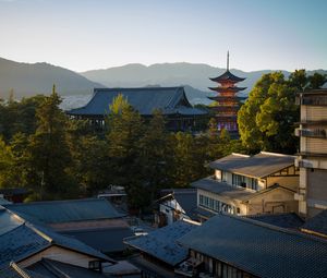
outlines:
[[[313,217],[327,209],[327,89],[300,93],[299,213]]]

